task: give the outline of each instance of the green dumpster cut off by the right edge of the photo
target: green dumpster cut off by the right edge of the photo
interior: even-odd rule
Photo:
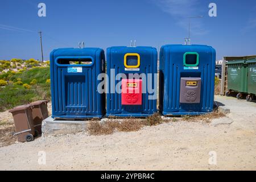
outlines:
[[[248,64],[248,95],[246,101],[252,101],[256,96],[256,59],[247,60]]]

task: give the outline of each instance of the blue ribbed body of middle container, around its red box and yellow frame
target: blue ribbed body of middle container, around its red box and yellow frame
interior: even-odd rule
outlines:
[[[140,63],[138,68],[130,69],[125,65],[124,57],[127,54],[138,54]],[[152,47],[111,47],[107,49],[107,74],[109,77],[107,94],[107,116],[118,117],[145,117],[156,112],[156,93],[143,92],[142,105],[122,105],[121,79],[129,78],[129,74],[136,74],[142,78],[141,74],[146,75],[142,81],[143,88],[157,87],[157,52]],[[152,78],[148,84],[148,76]],[[145,90],[144,90],[145,91]],[[147,90],[146,90],[147,91]]]

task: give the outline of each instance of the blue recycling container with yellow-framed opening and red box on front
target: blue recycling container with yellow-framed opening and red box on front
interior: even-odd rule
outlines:
[[[107,49],[107,117],[147,117],[156,112],[157,59],[153,47]]]

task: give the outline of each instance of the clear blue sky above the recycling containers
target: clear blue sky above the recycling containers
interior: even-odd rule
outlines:
[[[38,4],[46,3],[46,17]],[[217,17],[209,17],[209,3]],[[9,0],[0,2],[0,59],[41,59],[52,49],[77,47],[183,44],[191,19],[191,43],[207,44],[223,56],[256,55],[255,0]]]

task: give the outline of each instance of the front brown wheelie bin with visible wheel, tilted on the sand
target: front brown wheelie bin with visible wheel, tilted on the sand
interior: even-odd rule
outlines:
[[[31,142],[34,140],[35,129],[32,118],[32,106],[22,105],[9,110],[13,114],[15,133],[19,142]]]

